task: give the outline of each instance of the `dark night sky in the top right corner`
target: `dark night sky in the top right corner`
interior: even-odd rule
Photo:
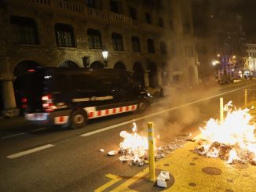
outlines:
[[[192,3],[195,31],[205,32],[205,28],[210,31],[214,27],[210,23],[213,17],[219,28],[236,31],[240,20],[247,41],[256,42],[255,0],[192,0]]]

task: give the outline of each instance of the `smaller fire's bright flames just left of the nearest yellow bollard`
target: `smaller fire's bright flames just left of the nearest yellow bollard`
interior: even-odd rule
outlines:
[[[123,137],[123,142],[119,144],[120,151],[126,156],[122,156],[119,159],[122,161],[133,160],[133,162],[141,162],[148,155],[148,138],[137,134],[137,125],[133,122],[133,132],[126,131],[120,132],[120,136]]]

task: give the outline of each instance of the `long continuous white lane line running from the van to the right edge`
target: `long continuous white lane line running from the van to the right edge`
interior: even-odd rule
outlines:
[[[256,83],[251,84],[251,85],[256,85]],[[192,105],[192,104],[195,104],[195,103],[202,102],[202,101],[204,101],[204,100],[210,100],[210,99],[212,99],[212,98],[214,98],[214,97],[223,96],[223,95],[228,94],[228,93],[230,93],[230,92],[236,92],[236,91],[238,91],[238,90],[240,90],[240,89],[244,89],[244,88],[249,87],[249,86],[251,86],[251,85],[246,85],[246,86],[243,86],[243,87],[241,87],[241,88],[233,89],[233,90],[231,90],[231,91],[223,92],[223,93],[220,93],[220,94],[217,94],[217,95],[214,95],[214,96],[208,96],[208,97],[203,98],[203,99],[201,99],[201,100],[195,100],[195,101],[192,101],[192,102],[189,102],[189,103],[182,104],[182,105],[177,106],[177,107],[171,107],[171,108],[166,109],[166,110],[161,110],[161,111],[156,112],[156,113],[153,113],[153,114],[145,115],[145,116],[143,116],[143,117],[141,117],[141,118],[136,118],[136,119],[133,119],[133,120],[124,121],[124,122],[119,123],[119,124],[111,125],[111,126],[108,126],[108,127],[102,128],[102,129],[97,129],[96,131],[87,132],[87,133],[84,133],[84,134],[82,134],[82,135],[80,135],[80,136],[92,136],[92,135],[95,135],[95,134],[97,134],[97,133],[99,133],[99,132],[105,132],[105,131],[108,131],[108,130],[110,130],[110,129],[114,129],[114,128],[116,128],[116,127],[122,126],[122,125],[127,125],[127,124],[129,124],[129,123],[131,123],[131,122],[134,122],[134,121],[140,121],[140,120],[145,119],[145,118],[151,118],[151,117],[153,117],[153,116],[155,116],[155,115],[163,114],[163,113],[166,113],[166,112],[171,111],[171,110],[176,110],[176,109],[181,108],[181,107],[186,107],[186,106],[189,106],[189,105]]]

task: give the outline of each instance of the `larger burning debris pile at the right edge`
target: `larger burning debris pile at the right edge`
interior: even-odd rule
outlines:
[[[251,123],[248,109],[237,110],[229,102],[223,122],[211,118],[204,128],[199,128],[203,137],[203,146],[195,152],[210,158],[221,158],[227,163],[250,162],[256,164],[255,124]]]

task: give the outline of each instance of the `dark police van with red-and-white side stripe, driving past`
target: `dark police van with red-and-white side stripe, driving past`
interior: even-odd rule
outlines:
[[[20,79],[28,121],[77,129],[92,118],[144,112],[152,97],[127,71],[38,68]]]

